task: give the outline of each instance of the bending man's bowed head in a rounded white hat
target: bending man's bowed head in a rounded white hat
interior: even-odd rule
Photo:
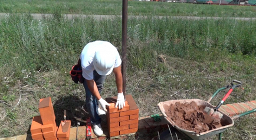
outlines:
[[[93,58],[93,65],[99,75],[109,75],[114,68],[114,55],[107,50],[97,51]]]

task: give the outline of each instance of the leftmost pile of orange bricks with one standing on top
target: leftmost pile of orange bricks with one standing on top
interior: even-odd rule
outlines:
[[[51,98],[40,99],[38,106],[40,116],[34,116],[31,123],[31,136],[34,140],[56,140],[58,126]]]

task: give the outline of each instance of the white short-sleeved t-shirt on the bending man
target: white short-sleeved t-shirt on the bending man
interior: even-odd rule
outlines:
[[[83,69],[83,77],[87,80],[93,79],[93,57],[98,50],[105,49],[106,53],[113,54],[113,57],[116,59],[114,68],[117,68],[122,64],[122,60],[120,58],[119,52],[117,48],[112,45],[110,42],[107,41],[94,41],[88,43],[84,46],[83,51],[81,52],[80,59],[81,59],[81,66]]]

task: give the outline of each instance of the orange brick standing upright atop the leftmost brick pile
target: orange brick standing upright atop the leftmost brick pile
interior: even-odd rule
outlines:
[[[38,109],[43,125],[54,124],[55,114],[50,97],[42,99],[39,103]]]

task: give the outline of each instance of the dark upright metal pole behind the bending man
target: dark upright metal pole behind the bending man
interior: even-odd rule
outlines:
[[[127,0],[123,0],[122,12],[122,75],[123,75],[123,95],[126,94],[126,51],[127,51]]]

